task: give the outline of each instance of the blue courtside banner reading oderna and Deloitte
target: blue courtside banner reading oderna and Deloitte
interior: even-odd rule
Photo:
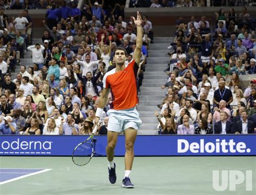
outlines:
[[[0,136],[1,156],[71,156],[87,136]],[[105,156],[106,136],[95,136],[96,152]],[[134,145],[136,156],[256,156],[256,135],[142,135]],[[119,136],[116,156],[125,154]]]

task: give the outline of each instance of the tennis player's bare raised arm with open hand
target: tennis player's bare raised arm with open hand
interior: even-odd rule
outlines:
[[[137,11],[137,19],[133,18],[134,24],[137,26],[136,48],[133,53],[133,59],[139,65],[140,57],[142,55],[142,17]]]

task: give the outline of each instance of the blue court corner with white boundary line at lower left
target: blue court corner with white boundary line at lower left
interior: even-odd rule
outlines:
[[[0,168],[0,185],[50,170]]]

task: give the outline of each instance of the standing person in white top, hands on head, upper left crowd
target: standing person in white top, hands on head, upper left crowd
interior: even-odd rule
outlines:
[[[43,57],[43,52],[45,50],[44,46],[37,43],[36,45],[28,46],[27,49],[32,52],[33,64],[37,64],[39,69],[42,69],[44,64],[44,57]]]

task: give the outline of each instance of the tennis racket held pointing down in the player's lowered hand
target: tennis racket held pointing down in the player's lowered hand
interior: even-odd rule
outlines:
[[[97,132],[97,126],[92,131],[92,135],[85,141],[79,143],[73,150],[72,161],[77,166],[84,166],[91,161],[91,158],[95,155],[93,148],[93,137]]]

